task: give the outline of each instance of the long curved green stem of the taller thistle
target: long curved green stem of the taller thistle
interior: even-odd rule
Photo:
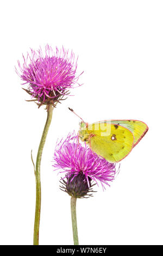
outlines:
[[[41,210],[41,180],[40,180],[40,164],[43,146],[46,141],[47,133],[49,126],[52,121],[53,106],[47,105],[47,120],[45,127],[43,129],[37,159],[36,159],[36,170],[35,170],[35,179],[36,179],[36,208],[35,208],[35,224],[34,224],[34,239],[33,244],[39,245],[39,226],[40,226],[40,210]]]

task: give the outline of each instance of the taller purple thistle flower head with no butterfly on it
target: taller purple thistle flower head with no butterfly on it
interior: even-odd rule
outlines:
[[[39,106],[42,104],[53,104],[65,99],[69,94],[69,89],[74,87],[79,76],[76,76],[77,60],[74,53],[69,54],[64,48],[60,51],[56,47],[55,51],[46,45],[45,52],[41,47],[39,50],[30,50],[27,57],[23,56],[23,65],[18,61],[20,71],[17,74],[28,88],[27,93],[37,100]],[[79,84],[78,84],[79,85]],[[34,100],[33,100],[34,101]]]

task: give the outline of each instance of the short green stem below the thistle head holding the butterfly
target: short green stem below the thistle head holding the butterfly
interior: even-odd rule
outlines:
[[[73,241],[74,241],[74,245],[79,245],[76,203],[77,203],[77,198],[71,197],[71,218],[72,218]]]

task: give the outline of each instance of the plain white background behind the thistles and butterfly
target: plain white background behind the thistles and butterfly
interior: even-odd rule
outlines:
[[[46,120],[15,73],[22,53],[72,49],[82,87],[54,110],[41,164],[40,245],[72,245],[70,197],[53,172],[57,138],[79,119],[138,119],[147,135],[121,162],[111,187],[77,200],[80,245],[162,245],[162,1],[1,2],[1,245],[32,245],[36,159]],[[26,87],[24,87],[26,88]]]

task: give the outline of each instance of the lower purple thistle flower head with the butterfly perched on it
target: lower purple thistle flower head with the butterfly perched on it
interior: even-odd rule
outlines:
[[[65,173],[61,179],[61,190],[76,198],[92,196],[88,194],[93,192],[92,181],[104,188],[114,180],[116,173],[114,163],[93,153],[86,144],[80,144],[74,133],[57,143],[53,167],[54,170],[59,169],[59,173]]]

